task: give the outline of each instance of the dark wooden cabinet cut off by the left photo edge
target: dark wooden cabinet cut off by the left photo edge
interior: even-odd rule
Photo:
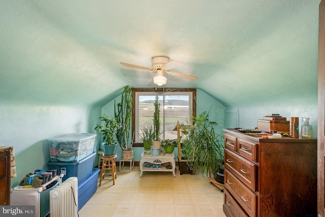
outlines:
[[[12,147],[0,147],[0,205],[10,205],[10,152]]]

